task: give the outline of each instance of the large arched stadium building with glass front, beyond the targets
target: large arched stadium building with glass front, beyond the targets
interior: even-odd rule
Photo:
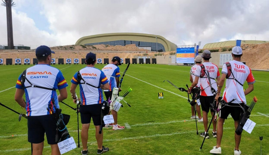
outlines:
[[[89,35],[80,38],[76,45],[129,45],[135,44],[138,48],[156,51],[156,43],[158,52],[174,51],[176,44],[168,41],[160,35],[152,35],[145,33],[105,33],[98,35]]]

